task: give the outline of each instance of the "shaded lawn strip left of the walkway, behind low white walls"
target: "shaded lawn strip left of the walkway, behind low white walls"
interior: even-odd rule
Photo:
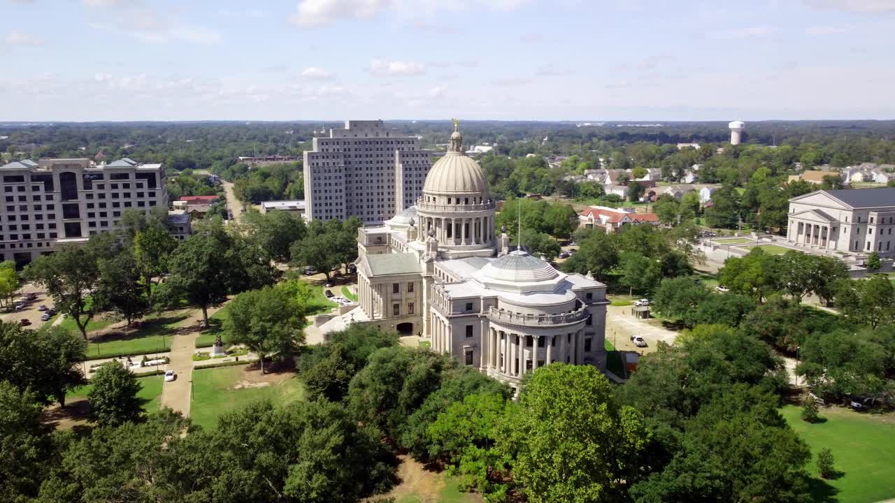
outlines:
[[[103,337],[91,342],[88,358],[104,358],[123,354],[152,354],[167,351],[171,347],[171,336],[183,320],[190,316],[182,313],[163,312],[161,316],[151,314],[143,320],[139,330],[128,336]],[[64,324],[64,322],[63,322]]]

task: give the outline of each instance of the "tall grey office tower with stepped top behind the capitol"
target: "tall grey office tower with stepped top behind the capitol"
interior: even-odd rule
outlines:
[[[413,206],[431,166],[432,152],[419,144],[382,121],[345,121],[345,129],[314,138],[304,152],[306,217],[357,216],[370,225]]]

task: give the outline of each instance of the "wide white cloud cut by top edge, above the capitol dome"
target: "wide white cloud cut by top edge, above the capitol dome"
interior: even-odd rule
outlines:
[[[369,19],[386,11],[405,19],[434,17],[440,11],[492,9],[509,11],[529,0],[300,0],[289,21],[303,28],[319,27],[334,21]],[[447,24],[439,22],[440,27]]]

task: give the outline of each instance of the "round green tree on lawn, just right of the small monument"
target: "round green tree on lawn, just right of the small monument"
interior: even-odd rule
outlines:
[[[279,288],[267,287],[236,295],[228,306],[226,328],[231,342],[258,354],[261,373],[269,356],[286,359],[304,342],[306,309]]]

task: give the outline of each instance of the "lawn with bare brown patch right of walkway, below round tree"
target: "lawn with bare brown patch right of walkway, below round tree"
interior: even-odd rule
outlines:
[[[214,428],[217,416],[257,400],[286,405],[304,398],[302,381],[290,376],[268,386],[243,388],[247,365],[192,371],[190,417],[194,424]],[[239,388],[235,388],[239,386]]]

